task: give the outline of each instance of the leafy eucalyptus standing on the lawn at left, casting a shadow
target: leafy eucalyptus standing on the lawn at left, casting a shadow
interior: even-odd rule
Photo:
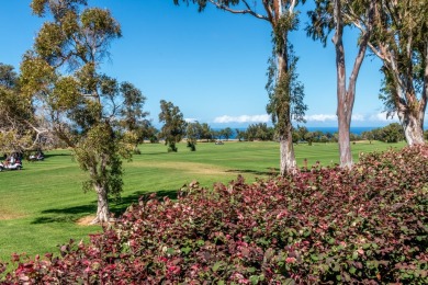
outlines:
[[[122,191],[121,157],[131,157],[134,136],[121,126],[128,118],[127,106],[138,106],[142,98],[134,87],[99,71],[111,42],[121,37],[121,26],[110,11],[86,3],[33,0],[33,12],[49,20],[23,58],[21,88],[89,173],[83,189],[97,193],[95,224],[109,220],[109,197]],[[133,103],[126,102],[127,93],[135,94]]]

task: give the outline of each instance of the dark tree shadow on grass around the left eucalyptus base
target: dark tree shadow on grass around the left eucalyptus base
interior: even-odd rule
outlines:
[[[120,201],[115,202],[114,200],[110,201],[110,210],[115,216],[121,216],[131,204],[137,204],[139,197],[144,196],[145,200],[148,200],[151,193],[156,193],[158,198],[169,197],[171,200],[177,198],[178,190],[160,190],[157,192],[134,192],[131,195],[122,197]],[[97,201],[93,201],[91,204],[67,207],[67,208],[50,208],[45,209],[41,216],[36,217],[31,224],[50,224],[50,223],[75,223],[78,219],[94,215],[97,213]]]

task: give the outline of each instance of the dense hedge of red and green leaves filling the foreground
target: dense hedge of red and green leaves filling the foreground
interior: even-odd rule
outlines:
[[[428,281],[428,148],[369,153],[352,170],[313,168],[177,202],[132,205],[89,244],[21,260],[2,283],[284,284]],[[0,264],[0,273],[5,272]]]

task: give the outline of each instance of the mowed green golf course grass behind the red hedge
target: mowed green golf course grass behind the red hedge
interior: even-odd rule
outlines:
[[[354,161],[360,152],[401,148],[401,144],[374,141],[352,145]],[[140,195],[157,192],[174,197],[184,184],[196,180],[212,187],[227,183],[241,174],[248,182],[278,173],[278,142],[236,142],[224,145],[200,142],[191,152],[179,144],[179,152],[168,153],[162,144],[140,146],[142,155],[124,162],[122,201],[111,203],[116,215],[123,213]],[[296,160],[303,167],[319,161],[323,166],[338,162],[336,144],[296,145]],[[81,183],[87,175],[72,160],[69,150],[46,152],[45,161],[24,162],[22,171],[0,173],[0,260],[9,261],[12,253],[26,252],[30,256],[57,252],[57,246],[69,239],[88,240],[88,233],[99,226],[77,221],[95,213],[93,192],[83,193]]]

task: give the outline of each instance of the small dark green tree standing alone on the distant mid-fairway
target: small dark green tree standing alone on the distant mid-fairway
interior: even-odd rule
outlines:
[[[185,135],[187,123],[178,106],[165,100],[160,101],[159,122],[164,123],[159,136],[168,145],[168,151],[177,152],[177,142],[181,141]]]

